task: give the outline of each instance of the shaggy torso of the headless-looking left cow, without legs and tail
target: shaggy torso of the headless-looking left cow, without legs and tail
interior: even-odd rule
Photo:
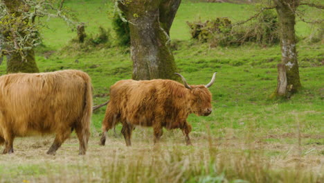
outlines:
[[[67,128],[82,116],[87,80],[75,70],[1,76],[0,125],[17,136]]]

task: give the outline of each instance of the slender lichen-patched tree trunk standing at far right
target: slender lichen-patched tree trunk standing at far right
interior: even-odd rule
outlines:
[[[282,65],[285,69],[278,69],[278,76],[282,76],[282,71],[285,71],[287,78],[287,86],[285,92],[278,92],[282,88],[281,83],[278,82],[276,92],[273,96],[289,97],[291,94],[300,89],[300,77],[298,70],[298,60],[296,52],[296,35],[295,35],[295,12],[299,5],[298,0],[273,0],[276,3],[276,10],[278,13],[280,24],[280,39],[281,39],[281,53]],[[280,68],[280,67],[278,67]],[[280,77],[282,78],[282,77]]]

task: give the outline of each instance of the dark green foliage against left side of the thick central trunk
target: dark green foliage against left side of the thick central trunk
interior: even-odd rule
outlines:
[[[121,17],[120,17],[121,16]],[[130,45],[130,37],[129,37],[129,26],[127,21],[123,21],[126,19],[125,14],[120,12],[120,15],[116,13],[112,19],[112,28],[116,33],[116,42],[120,46],[129,46]]]

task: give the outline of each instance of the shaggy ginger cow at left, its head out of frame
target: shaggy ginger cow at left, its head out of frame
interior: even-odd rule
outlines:
[[[0,77],[0,145],[13,153],[15,137],[55,133],[47,154],[55,155],[75,129],[84,155],[92,114],[91,79],[82,71],[11,73]]]

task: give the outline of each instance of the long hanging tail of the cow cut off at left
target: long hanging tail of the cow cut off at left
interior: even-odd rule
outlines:
[[[81,125],[82,125],[83,138],[87,144],[90,137],[90,123],[91,123],[91,116],[92,116],[92,85],[89,76],[84,76],[83,78],[85,81],[85,91],[84,91],[84,108],[82,112]]]

